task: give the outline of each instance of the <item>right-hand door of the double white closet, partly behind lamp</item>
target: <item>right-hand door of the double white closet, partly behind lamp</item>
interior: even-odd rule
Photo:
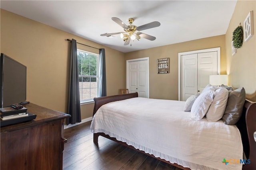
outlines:
[[[217,74],[217,51],[198,53],[198,92],[209,84],[209,76]]]

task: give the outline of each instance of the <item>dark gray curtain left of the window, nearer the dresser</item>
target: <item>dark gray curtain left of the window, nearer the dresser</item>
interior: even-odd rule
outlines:
[[[71,41],[68,114],[70,114],[71,117],[67,118],[67,125],[70,123],[75,124],[81,122],[77,47],[75,39],[72,39]]]

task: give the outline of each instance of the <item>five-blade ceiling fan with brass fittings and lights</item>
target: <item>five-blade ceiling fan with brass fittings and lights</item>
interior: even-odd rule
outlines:
[[[130,43],[131,39],[132,40],[134,40],[134,39],[140,40],[141,37],[148,39],[150,41],[154,41],[156,39],[156,37],[154,37],[152,35],[145,34],[145,33],[141,33],[139,31],[160,26],[160,22],[158,22],[158,21],[150,22],[150,23],[147,23],[147,24],[137,27],[136,25],[132,25],[132,23],[134,21],[133,18],[128,19],[128,22],[130,25],[126,25],[123,21],[121,21],[119,18],[116,18],[116,17],[112,17],[111,19],[113,21],[115,21],[118,25],[120,25],[122,28],[124,28],[124,32],[104,33],[104,34],[101,34],[101,36],[109,37],[111,35],[120,34],[120,37],[124,40],[124,45],[128,45]]]

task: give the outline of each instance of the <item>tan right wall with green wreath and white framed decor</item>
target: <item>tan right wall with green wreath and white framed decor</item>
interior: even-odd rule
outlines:
[[[243,42],[232,56],[232,33],[239,23],[244,29],[244,20],[248,13],[253,11],[254,35],[247,42]],[[246,98],[256,102],[256,1],[238,0],[232,19],[226,32],[226,56],[227,73],[230,86],[234,88],[244,87]]]

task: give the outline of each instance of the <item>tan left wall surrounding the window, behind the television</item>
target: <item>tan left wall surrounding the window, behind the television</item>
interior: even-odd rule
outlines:
[[[1,9],[0,17],[0,50],[27,66],[28,101],[67,112],[70,41],[65,39],[105,48],[107,95],[118,94],[126,86],[124,53],[6,10]],[[98,53],[93,48],[78,48]],[[81,105],[82,119],[92,117],[93,107],[94,103]]]

